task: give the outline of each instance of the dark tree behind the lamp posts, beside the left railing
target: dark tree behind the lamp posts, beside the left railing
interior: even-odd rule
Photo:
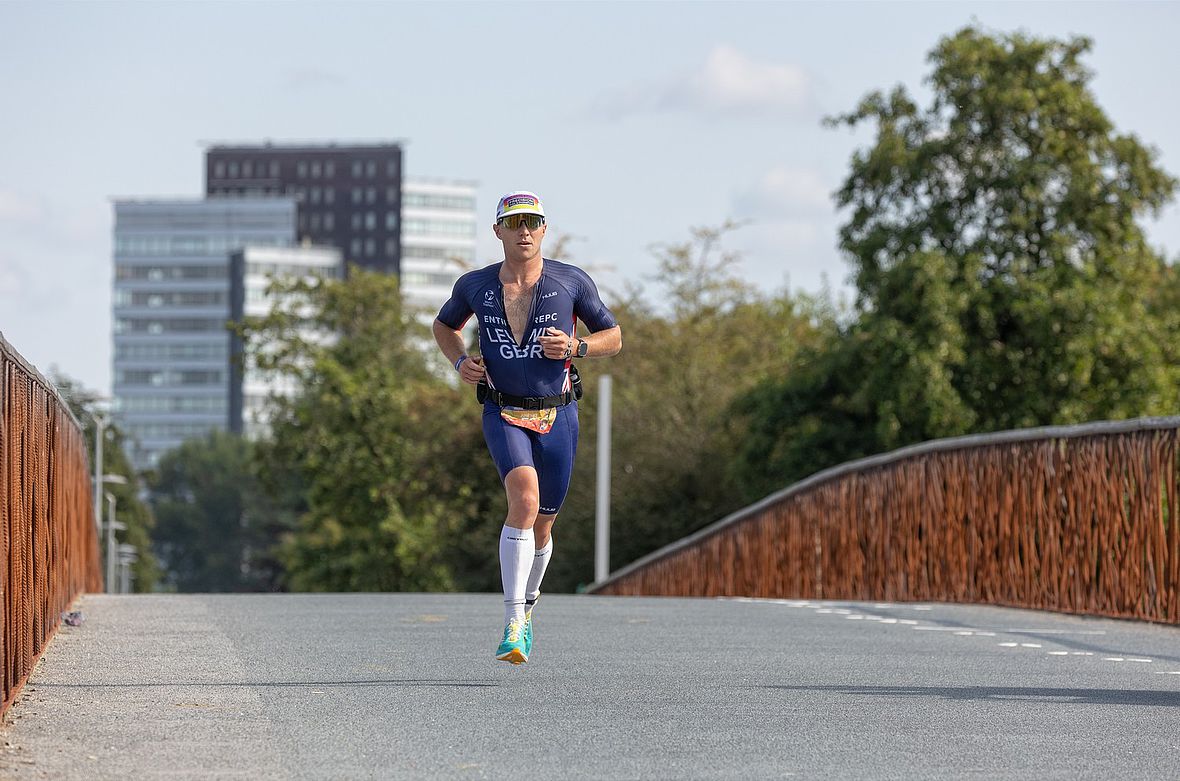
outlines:
[[[70,411],[73,412],[74,418],[81,424],[86,438],[86,451],[90,453],[91,459],[93,459],[94,415],[100,414],[105,416],[107,414],[101,403],[101,396],[97,392],[83,387],[77,380],[59,372],[54,372],[51,379],[61,393],[61,396],[66,400],[66,403],[70,405]],[[116,424],[109,421],[103,429],[103,472],[105,474],[119,474],[127,480],[125,485],[112,483],[103,486],[104,492],[110,492],[114,497],[117,520],[126,525],[126,529],[116,532],[116,539],[119,543],[127,543],[136,546],[138,557],[131,565],[132,590],[140,593],[150,592],[156,589],[160,573],[159,563],[156,560],[151,549],[151,534],[156,521],[151,514],[151,510],[139,499],[142,495],[140,479],[131,467],[131,460],[127,458],[125,449],[126,437],[123,434],[123,431]],[[93,468],[93,465],[92,460],[91,468]],[[106,512],[107,505],[104,500],[104,518],[106,517]],[[99,540],[99,545],[103,550],[105,562],[105,537]]]

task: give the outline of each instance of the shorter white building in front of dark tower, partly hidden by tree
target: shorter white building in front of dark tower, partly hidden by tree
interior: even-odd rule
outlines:
[[[268,291],[271,280],[313,277],[333,278],[341,274],[340,250],[335,247],[247,247],[230,257],[230,317],[261,317],[271,313],[278,297]],[[316,334],[304,332],[304,339]],[[321,339],[332,339],[321,335]],[[229,428],[247,439],[258,439],[269,431],[268,399],[291,395],[299,390],[290,378],[260,373],[249,361],[242,361],[244,346],[234,335],[230,340]],[[266,344],[251,346],[264,352]]]

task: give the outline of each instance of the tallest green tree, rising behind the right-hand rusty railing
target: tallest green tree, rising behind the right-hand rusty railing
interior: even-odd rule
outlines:
[[[877,131],[838,193],[857,317],[813,372],[743,401],[761,427],[747,485],[969,431],[1176,409],[1172,271],[1138,222],[1176,181],[1097,105],[1089,48],[969,27],[930,54],[926,109],[897,87],[831,120]],[[861,433],[830,447],[830,418]]]

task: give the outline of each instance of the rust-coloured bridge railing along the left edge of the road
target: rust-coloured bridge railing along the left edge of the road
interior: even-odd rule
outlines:
[[[8,709],[83,591],[101,591],[85,438],[57,389],[0,334],[0,642]]]

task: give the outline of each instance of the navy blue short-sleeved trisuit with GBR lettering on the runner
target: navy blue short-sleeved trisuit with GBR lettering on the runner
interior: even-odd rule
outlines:
[[[578,320],[591,333],[617,324],[585,271],[550,258],[543,258],[542,264],[524,339],[513,336],[504,309],[503,262],[459,277],[451,298],[439,310],[439,322],[454,330],[461,330],[476,315],[487,385],[507,395],[555,396],[571,389],[570,361],[545,357],[537,340],[546,328],[559,328],[572,336]],[[557,514],[570,487],[578,447],[577,401],[559,407],[552,428],[542,434],[506,422],[500,407],[487,400],[484,439],[500,480],[518,466],[532,466],[537,470],[542,514]]]

